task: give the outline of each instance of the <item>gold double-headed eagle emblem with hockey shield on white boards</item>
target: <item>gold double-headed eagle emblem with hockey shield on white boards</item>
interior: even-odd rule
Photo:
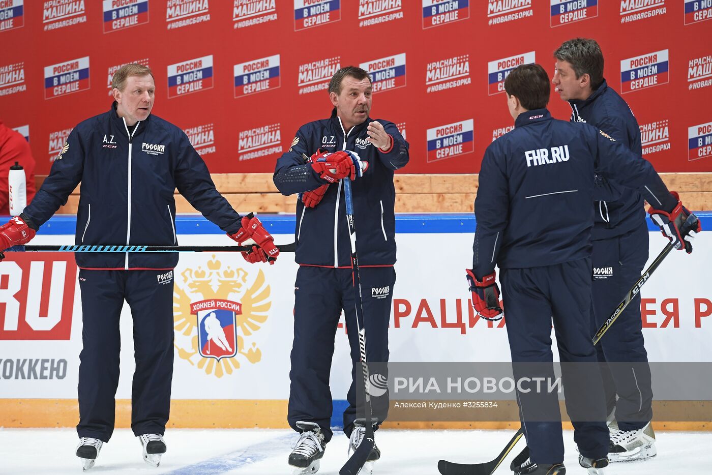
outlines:
[[[174,271],[173,292],[179,361],[223,377],[262,360],[256,336],[272,306],[263,271],[231,268],[216,256],[191,256]]]

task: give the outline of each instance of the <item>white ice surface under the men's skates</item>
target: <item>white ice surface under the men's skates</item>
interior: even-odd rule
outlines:
[[[141,458],[141,444],[128,429],[117,429],[104,444],[89,474],[290,474],[287,456],[295,433],[284,429],[169,429],[168,452],[157,469]],[[491,460],[513,435],[511,430],[393,430],[376,432],[382,459],[375,475],[437,474],[439,459],[461,463]],[[647,461],[613,464],[606,475],[703,475],[712,473],[712,432],[656,432],[658,455]],[[573,434],[564,433],[565,464],[578,466]],[[74,455],[74,429],[0,429],[0,474],[81,474]],[[335,475],[347,458],[347,438],[336,432],[328,444],[320,475]],[[496,474],[511,474],[509,461]]]

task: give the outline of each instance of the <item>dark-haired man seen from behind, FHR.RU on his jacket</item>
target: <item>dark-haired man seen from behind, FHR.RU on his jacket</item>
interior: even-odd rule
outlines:
[[[659,203],[651,214],[666,220],[675,246],[691,251],[680,231],[689,212],[639,155],[594,127],[554,120],[545,108],[550,83],[544,68],[518,66],[504,87],[515,129],[492,142],[482,160],[473,268],[467,269],[473,306],[483,318],[501,318],[499,266],[518,382],[555,379],[553,322],[579,462],[590,474],[602,474],[608,464],[608,431],[601,376],[595,365],[587,364],[596,362],[589,316],[591,177],[598,170],[642,189]],[[572,367],[574,363],[583,364]],[[517,385],[528,448],[511,468],[517,475],[563,475],[557,394],[526,389]]]

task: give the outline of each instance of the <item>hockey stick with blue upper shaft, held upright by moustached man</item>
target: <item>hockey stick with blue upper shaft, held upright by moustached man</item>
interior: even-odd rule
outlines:
[[[339,475],[357,475],[366,463],[368,454],[371,453],[371,449],[373,449],[375,441],[373,437],[371,395],[368,391],[369,380],[368,365],[366,360],[366,328],[364,326],[363,319],[363,301],[361,295],[361,278],[358,268],[358,254],[356,253],[356,227],[354,225],[354,204],[351,196],[351,181],[348,178],[345,178],[342,179],[341,182],[344,184],[344,197],[346,200],[346,219],[349,223],[349,236],[351,241],[351,266],[354,286],[354,297],[356,303],[356,324],[358,327],[358,345],[361,352],[361,370],[363,373],[363,392],[365,396],[364,426],[366,429],[366,434],[364,435],[360,446],[357,447],[354,453],[346,461],[344,466],[341,467]]]

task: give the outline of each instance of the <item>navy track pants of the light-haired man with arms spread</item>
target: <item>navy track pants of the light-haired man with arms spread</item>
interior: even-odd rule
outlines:
[[[79,437],[108,442],[114,431],[124,301],[131,308],[136,360],[131,429],[136,436],[164,434],[173,377],[173,278],[167,278],[172,272],[79,271],[83,313]]]

